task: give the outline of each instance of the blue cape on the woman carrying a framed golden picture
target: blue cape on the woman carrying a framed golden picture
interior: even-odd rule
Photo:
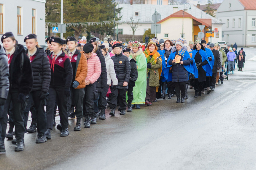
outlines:
[[[167,65],[166,65],[166,67],[165,67],[164,70],[163,70],[164,77],[167,79],[168,82],[171,81],[171,73],[169,73],[169,70],[170,70],[170,67],[172,66],[172,64],[171,64],[171,65],[169,64],[169,60],[175,59],[175,54],[176,54],[176,51],[171,52],[171,54],[169,55],[168,60],[167,60]],[[182,61],[183,61],[183,60],[187,60],[187,59],[189,59],[189,58],[190,58],[190,55],[188,54],[187,51],[185,51],[185,54],[184,54],[184,56],[183,56]],[[190,58],[190,59],[191,59],[191,58]],[[190,73],[190,65],[191,65],[191,64],[189,64],[189,65],[187,65],[187,66],[184,66],[184,65],[183,65],[183,67],[184,67],[184,68],[187,70],[187,72],[189,72],[189,73]]]

